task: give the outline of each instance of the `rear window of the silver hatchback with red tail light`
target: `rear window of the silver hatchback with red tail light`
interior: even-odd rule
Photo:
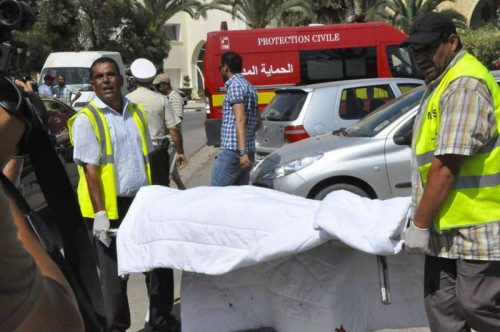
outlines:
[[[267,121],[293,121],[300,114],[307,99],[302,90],[277,91],[276,96],[266,106],[262,118]]]

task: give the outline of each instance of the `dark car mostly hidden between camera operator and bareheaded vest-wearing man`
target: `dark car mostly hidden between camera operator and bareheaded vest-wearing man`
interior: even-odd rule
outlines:
[[[73,162],[73,147],[69,140],[68,119],[76,114],[76,111],[57,98],[40,96],[47,110],[47,124],[49,132],[53,135],[56,151],[64,163],[66,173],[74,188],[78,184],[78,171]],[[40,211],[46,207],[40,185],[31,167],[30,161],[25,160],[21,174],[21,189],[30,207]]]

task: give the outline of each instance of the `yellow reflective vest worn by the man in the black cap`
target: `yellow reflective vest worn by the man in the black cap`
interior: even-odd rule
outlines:
[[[462,164],[457,181],[434,220],[438,232],[500,221],[500,89],[488,69],[468,53],[448,70],[428,98],[415,145],[416,160],[425,187],[441,125],[441,96],[451,82],[464,76],[488,86],[497,128],[489,143]]]

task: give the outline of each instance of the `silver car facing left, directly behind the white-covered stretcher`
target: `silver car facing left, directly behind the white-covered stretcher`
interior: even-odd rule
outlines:
[[[500,71],[492,72],[500,82]],[[261,161],[251,183],[323,199],[335,190],[386,199],[411,195],[411,138],[425,87],[384,105],[346,130],[285,146]]]

